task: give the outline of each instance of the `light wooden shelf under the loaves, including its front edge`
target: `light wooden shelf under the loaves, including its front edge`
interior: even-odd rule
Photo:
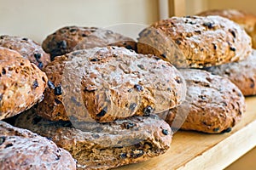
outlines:
[[[230,133],[179,131],[171,149],[149,161],[115,170],[223,169],[256,146],[256,97],[246,99],[247,111]]]

